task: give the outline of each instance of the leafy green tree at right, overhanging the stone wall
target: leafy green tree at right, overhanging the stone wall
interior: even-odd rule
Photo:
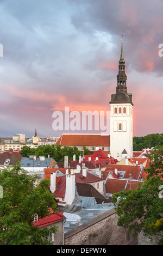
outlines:
[[[152,150],[151,163],[145,171],[146,180],[135,190],[123,190],[113,194],[112,203],[118,215],[117,224],[127,228],[136,236],[141,231],[152,239],[156,231],[162,229],[163,198],[160,188],[163,186],[163,146]],[[160,244],[162,241],[160,241]]]

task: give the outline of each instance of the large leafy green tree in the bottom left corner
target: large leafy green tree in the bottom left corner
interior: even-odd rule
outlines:
[[[0,198],[0,245],[51,245],[46,236],[56,227],[40,229],[33,225],[34,216],[41,218],[57,210],[49,180],[36,184],[36,176],[30,176],[17,163],[0,173],[3,198]]]

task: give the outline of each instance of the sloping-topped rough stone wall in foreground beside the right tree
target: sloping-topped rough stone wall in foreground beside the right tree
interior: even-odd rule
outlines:
[[[126,245],[130,238],[117,220],[111,209],[65,233],[65,245]]]

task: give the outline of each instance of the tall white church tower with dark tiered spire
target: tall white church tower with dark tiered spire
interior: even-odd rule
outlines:
[[[133,157],[133,102],[132,94],[127,93],[126,81],[122,41],[116,94],[111,95],[109,102],[110,155],[118,161],[124,157]]]

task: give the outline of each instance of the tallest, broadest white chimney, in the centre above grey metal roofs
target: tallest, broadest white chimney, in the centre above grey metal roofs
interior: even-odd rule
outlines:
[[[68,205],[71,205],[75,196],[75,174],[66,175],[66,192],[65,201]]]

